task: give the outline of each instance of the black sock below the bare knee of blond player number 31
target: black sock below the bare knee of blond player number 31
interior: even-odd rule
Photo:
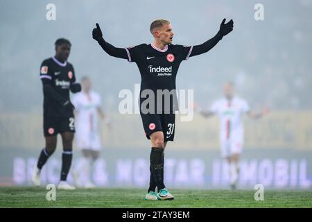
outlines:
[[[162,155],[164,148],[152,147],[150,151],[150,167],[153,172],[154,180],[157,185],[157,190],[164,189],[164,163],[162,162]]]

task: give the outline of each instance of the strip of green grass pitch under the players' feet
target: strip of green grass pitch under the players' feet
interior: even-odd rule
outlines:
[[[254,190],[169,191],[175,200],[144,200],[145,189],[56,189],[48,201],[44,187],[0,187],[0,207],[312,207],[311,190],[265,190],[263,201],[254,200]]]

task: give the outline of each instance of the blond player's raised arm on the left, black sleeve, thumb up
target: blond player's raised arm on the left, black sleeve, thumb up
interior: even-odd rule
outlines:
[[[116,58],[128,59],[128,54],[127,54],[127,51],[125,51],[125,49],[116,48],[115,46],[113,46],[112,44],[110,44],[104,40],[103,33],[102,33],[101,28],[98,25],[98,23],[96,23],[96,28],[94,28],[92,31],[92,37],[94,38],[94,40],[96,40],[98,42],[98,44],[100,44],[102,49],[108,55],[114,56]]]

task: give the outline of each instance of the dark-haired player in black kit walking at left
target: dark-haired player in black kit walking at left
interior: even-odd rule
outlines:
[[[37,166],[33,170],[33,184],[40,186],[40,171],[48,158],[54,153],[57,135],[62,136],[63,153],[60,184],[58,189],[75,189],[67,183],[67,174],[73,157],[72,143],[75,133],[73,105],[69,99],[69,90],[80,92],[76,83],[73,65],[67,62],[71,50],[69,40],[60,38],[55,42],[55,56],[42,62],[40,79],[44,94],[44,137],[46,146],[42,149]]]

